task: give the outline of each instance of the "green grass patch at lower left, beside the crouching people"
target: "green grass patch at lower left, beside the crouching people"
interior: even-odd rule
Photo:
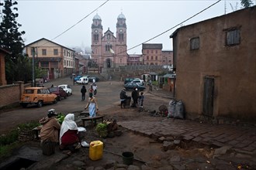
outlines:
[[[12,155],[12,151],[22,145],[22,142],[19,142],[19,134],[21,131],[31,131],[39,125],[38,121],[19,124],[16,128],[10,131],[9,134],[0,136],[0,162]]]

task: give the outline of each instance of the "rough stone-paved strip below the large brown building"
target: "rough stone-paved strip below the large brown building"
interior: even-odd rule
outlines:
[[[149,91],[159,97],[172,98],[164,90]],[[119,122],[123,128],[151,138],[179,137],[184,141],[195,141],[216,148],[229,147],[237,153],[256,156],[256,127],[231,124],[205,124],[199,121],[163,117],[161,121]],[[256,161],[256,160],[255,160]]]

